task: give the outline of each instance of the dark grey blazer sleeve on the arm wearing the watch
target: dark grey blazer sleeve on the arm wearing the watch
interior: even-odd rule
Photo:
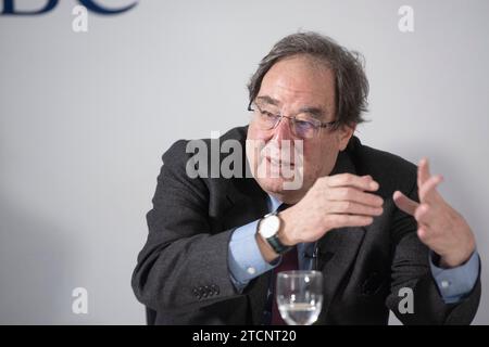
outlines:
[[[209,190],[186,174],[186,143],[163,155],[148,240],[133,273],[136,297],[153,310],[192,311],[237,295],[227,267],[233,230],[212,234]]]

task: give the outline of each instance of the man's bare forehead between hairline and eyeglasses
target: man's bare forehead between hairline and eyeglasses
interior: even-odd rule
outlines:
[[[274,64],[262,80],[259,95],[289,106],[327,106],[335,102],[335,78],[325,64],[292,56]]]

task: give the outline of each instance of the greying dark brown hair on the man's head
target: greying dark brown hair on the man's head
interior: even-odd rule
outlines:
[[[263,77],[275,63],[299,54],[324,63],[334,73],[338,126],[353,126],[365,121],[362,112],[366,112],[368,106],[368,80],[364,72],[363,55],[347,50],[327,36],[312,31],[292,34],[275,43],[248,83],[250,102],[256,98]]]

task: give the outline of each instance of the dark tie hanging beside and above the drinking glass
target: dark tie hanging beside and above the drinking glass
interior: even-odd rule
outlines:
[[[290,207],[290,205],[281,204],[277,208],[277,211],[281,211],[288,207]],[[280,271],[291,271],[298,269],[299,269],[298,253],[297,247],[293,246],[281,256],[280,264],[272,271],[272,278],[268,286],[265,316],[264,316],[265,324],[268,323],[272,325],[286,325],[286,322],[284,322],[284,320],[280,317],[280,312],[278,311],[277,306],[277,299],[275,298],[275,285],[277,281],[277,273]]]

